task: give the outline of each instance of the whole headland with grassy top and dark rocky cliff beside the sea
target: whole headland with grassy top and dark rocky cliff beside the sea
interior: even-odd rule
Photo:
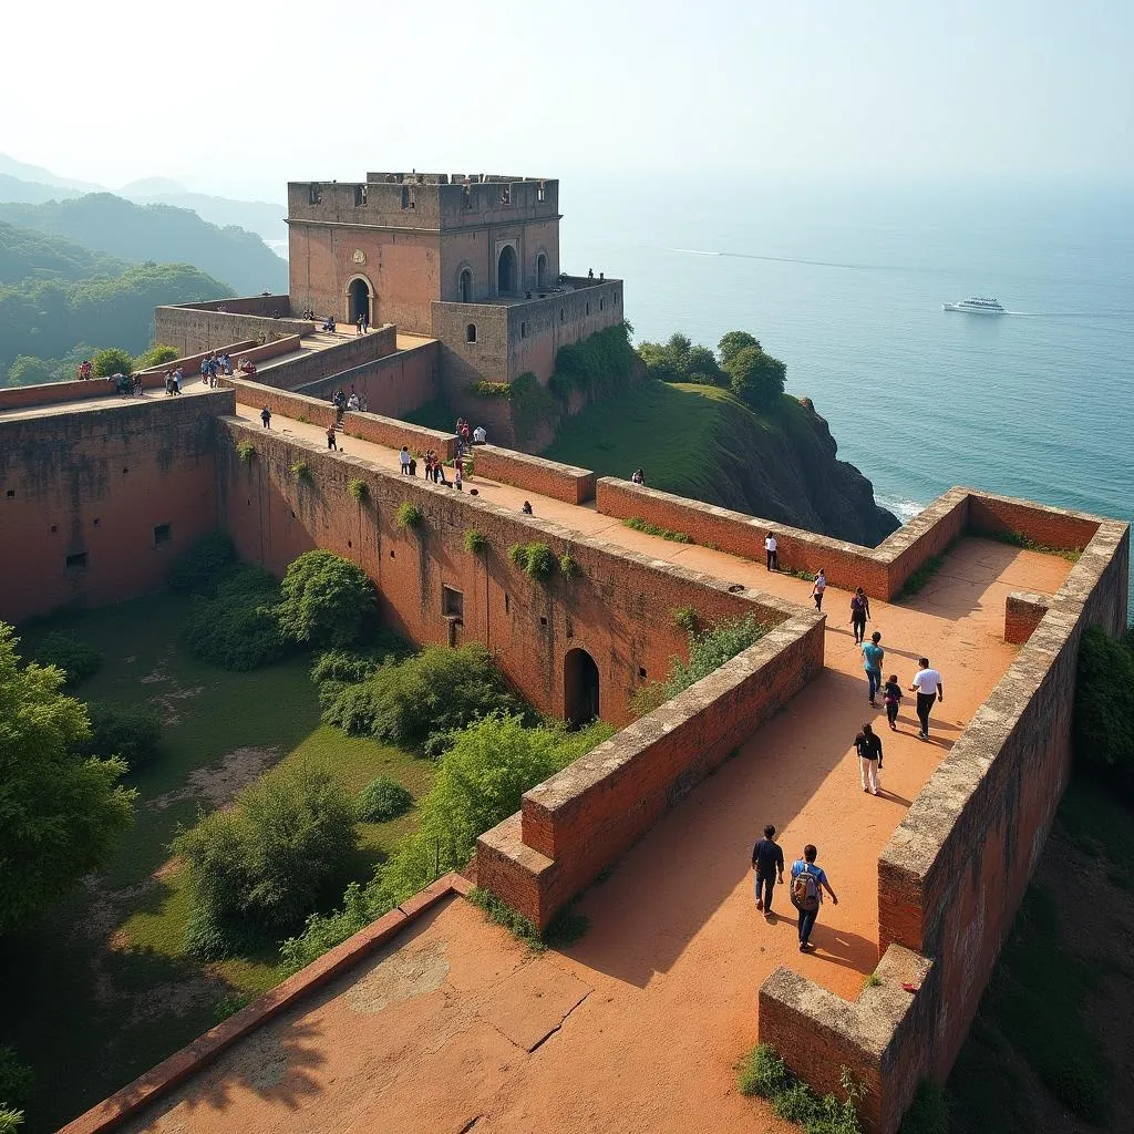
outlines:
[[[899,525],[839,460],[827,422],[781,395],[756,412],[714,386],[646,379],[568,418],[543,454],[650,488],[874,547]]]

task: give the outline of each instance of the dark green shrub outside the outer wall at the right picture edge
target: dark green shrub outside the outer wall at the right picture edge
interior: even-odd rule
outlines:
[[[1134,787],[1134,650],[1098,626],[1080,641],[1074,743],[1081,767]]]

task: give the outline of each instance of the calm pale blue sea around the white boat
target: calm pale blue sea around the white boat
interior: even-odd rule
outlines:
[[[560,181],[565,270],[635,339],[755,335],[908,518],[955,485],[1134,518],[1134,187]],[[1008,314],[942,311],[991,296]]]

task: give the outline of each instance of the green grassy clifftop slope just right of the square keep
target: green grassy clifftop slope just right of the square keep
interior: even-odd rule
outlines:
[[[651,488],[711,500],[722,466],[771,429],[727,390],[638,382],[568,418],[543,456],[600,476],[641,467]]]

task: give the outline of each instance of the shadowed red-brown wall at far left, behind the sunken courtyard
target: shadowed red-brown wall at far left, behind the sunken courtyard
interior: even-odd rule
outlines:
[[[217,391],[0,420],[0,619],[161,587],[217,527],[214,418],[234,409]]]

